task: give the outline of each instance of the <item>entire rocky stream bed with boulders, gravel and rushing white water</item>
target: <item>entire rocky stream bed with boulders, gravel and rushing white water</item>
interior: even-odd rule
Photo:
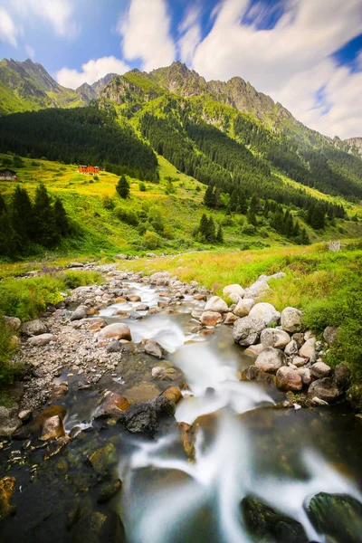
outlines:
[[[301,313],[114,266],[20,329],[0,540],[362,542],[362,420]],[[277,274],[277,277],[281,274]],[[274,276],[275,277],[275,276]],[[21,280],[19,280],[21,281]]]

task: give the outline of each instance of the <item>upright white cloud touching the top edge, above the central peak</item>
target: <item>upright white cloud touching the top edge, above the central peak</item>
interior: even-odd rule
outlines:
[[[129,61],[140,58],[146,71],[168,66],[176,55],[169,27],[166,0],[130,0],[118,24],[124,57]]]

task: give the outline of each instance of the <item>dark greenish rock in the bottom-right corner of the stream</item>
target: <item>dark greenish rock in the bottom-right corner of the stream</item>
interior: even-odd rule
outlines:
[[[336,543],[362,542],[362,503],[347,494],[319,492],[305,504],[313,527]]]

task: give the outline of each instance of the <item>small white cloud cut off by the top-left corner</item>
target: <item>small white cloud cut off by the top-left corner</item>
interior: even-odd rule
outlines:
[[[19,15],[26,18],[33,14],[43,19],[60,36],[73,38],[79,33],[70,0],[13,0],[12,4]]]

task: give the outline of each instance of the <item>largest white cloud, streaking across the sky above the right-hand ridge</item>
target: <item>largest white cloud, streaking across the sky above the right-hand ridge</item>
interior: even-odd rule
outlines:
[[[284,0],[284,14],[271,30],[257,27],[265,3],[249,12],[255,17],[252,24],[242,24],[248,7],[249,0],[221,2],[212,30],[195,48],[195,70],[206,79],[240,75],[329,136],[361,135],[361,75],[330,59],[362,32],[361,1]],[[321,88],[324,104],[316,104]]]

